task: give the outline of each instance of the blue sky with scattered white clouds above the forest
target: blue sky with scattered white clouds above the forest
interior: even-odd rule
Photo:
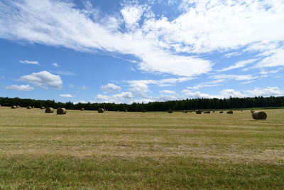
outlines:
[[[284,0],[1,0],[0,97],[284,95]]]

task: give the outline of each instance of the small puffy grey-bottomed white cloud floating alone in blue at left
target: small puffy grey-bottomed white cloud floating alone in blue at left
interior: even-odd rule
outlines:
[[[38,73],[32,73],[31,75],[23,75],[19,78],[19,81],[25,81],[37,85],[41,88],[47,88],[47,86],[52,88],[62,88],[62,80],[60,75],[53,75],[48,71],[40,71]]]

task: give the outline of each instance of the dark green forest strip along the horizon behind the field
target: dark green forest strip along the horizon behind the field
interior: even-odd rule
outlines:
[[[167,102],[148,102],[132,104],[115,104],[115,103],[78,103],[72,102],[55,102],[55,100],[33,100],[21,99],[18,97],[0,97],[0,105],[12,106],[20,105],[21,107],[34,106],[34,107],[65,107],[68,110],[98,110],[100,107],[109,111],[124,111],[141,112],[147,111],[167,111],[171,110],[214,110],[214,109],[231,109],[231,108],[249,108],[249,107],[284,107],[284,97],[230,97],[224,99],[218,98],[198,98],[187,100],[173,100]]]

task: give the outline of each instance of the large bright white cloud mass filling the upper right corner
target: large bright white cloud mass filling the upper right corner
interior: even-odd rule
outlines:
[[[180,8],[183,13],[176,19],[149,19],[143,31],[178,52],[233,51],[224,55],[227,58],[244,53],[241,48],[266,52],[275,46],[257,67],[284,64],[284,1],[184,0]]]

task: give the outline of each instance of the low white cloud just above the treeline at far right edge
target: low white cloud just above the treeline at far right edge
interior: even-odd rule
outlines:
[[[249,93],[253,96],[283,96],[284,91],[280,90],[278,87],[268,87],[268,88],[255,88],[253,90],[246,90],[246,93]]]

